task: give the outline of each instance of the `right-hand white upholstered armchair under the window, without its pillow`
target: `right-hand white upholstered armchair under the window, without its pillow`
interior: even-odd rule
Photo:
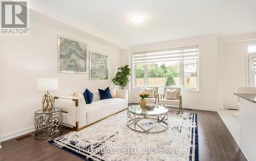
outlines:
[[[172,90],[177,90],[177,99],[164,99],[166,90],[169,89],[170,91]],[[179,111],[182,111],[182,99],[181,99],[181,89],[179,87],[164,87],[164,93],[161,94],[161,99],[160,99],[160,105],[165,104],[178,107]]]

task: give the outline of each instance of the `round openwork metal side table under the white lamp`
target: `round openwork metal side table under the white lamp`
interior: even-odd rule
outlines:
[[[35,119],[35,139],[49,140],[62,133],[62,109],[53,108],[48,112],[36,110]]]

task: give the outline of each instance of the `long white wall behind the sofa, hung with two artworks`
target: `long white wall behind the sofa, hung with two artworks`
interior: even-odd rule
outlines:
[[[30,23],[29,36],[0,36],[0,141],[11,132],[33,129],[33,112],[41,108],[45,93],[36,91],[37,78],[57,77],[59,90],[50,93],[72,94],[113,86],[111,79],[120,65],[120,51],[109,42],[33,11]],[[58,34],[108,55],[109,79],[91,81],[89,74],[57,73]]]

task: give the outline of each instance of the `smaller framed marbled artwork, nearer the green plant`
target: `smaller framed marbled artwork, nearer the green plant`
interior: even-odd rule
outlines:
[[[108,79],[108,56],[90,51],[90,79]]]

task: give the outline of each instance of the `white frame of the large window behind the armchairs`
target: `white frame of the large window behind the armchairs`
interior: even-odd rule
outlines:
[[[184,60],[180,61],[180,86],[174,86],[174,87],[180,87],[182,91],[185,92],[201,92],[201,45],[189,45],[189,46],[198,46],[198,59],[197,59],[197,88],[196,89],[189,89],[189,88],[184,88]],[[189,46],[183,46],[183,47],[173,47],[173,48],[185,48]],[[173,48],[165,48],[165,49],[173,49]],[[156,49],[156,50],[161,50],[161,49]],[[136,87],[136,63],[133,61],[133,56],[135,52],[145,52],[145,51],[133,51],[132,52],[132,67],[133,67],[133,89],[134,90],[141,90],[143,87]],[[154,63],[154,62],[148,62],[148,63]],[[144,63],[144,85],[147,86],[147,63]],[[162,87],[159,87],[159,90],[163,90]]]

